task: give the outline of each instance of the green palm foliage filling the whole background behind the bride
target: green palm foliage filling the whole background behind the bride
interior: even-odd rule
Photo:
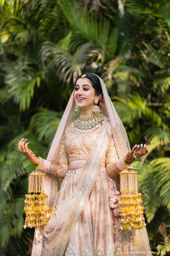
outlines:
[[[122,4],[121,4],[122,3]],[[30,255],[23,229],[33,164],[17,150],[47,157],[81,73],[102,77],[135,161],[151,249],[168,255],[170,187],[169,1],[0,1],[0,255]],[[164,254],[165,255],[165,254]]]

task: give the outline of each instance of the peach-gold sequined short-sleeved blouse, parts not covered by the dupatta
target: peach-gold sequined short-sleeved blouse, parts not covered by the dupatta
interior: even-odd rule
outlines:
[[[63,135],[63,141],[60,147],[57,163],[69,164],[69,162],[74,160],[87,160],[90,149],[96,141],[97,132],[98,129],[95,129],[91,130],[91,132],[82,134],[74,131],[71,129],[71,126],[68,125]],[[111,134],[110,126],[107,130],[107,135],[109,136],[109,134]],[[114,163],[118,160],[113,137],[112,135],[109,137],[111,137],[111,139],[108,144],[108,149],[102,159],[102,162],[105,163],[105,165],[108,163]]]

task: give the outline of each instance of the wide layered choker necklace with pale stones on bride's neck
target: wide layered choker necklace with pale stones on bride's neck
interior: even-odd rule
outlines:
[[[102,121],[104,114],[101,112],[94,113],[91,116],[82,116],[74,121],[73,129],[79,133],[91,132],[91,130],[95,130],[99,128],[99,123],[102,125]]]

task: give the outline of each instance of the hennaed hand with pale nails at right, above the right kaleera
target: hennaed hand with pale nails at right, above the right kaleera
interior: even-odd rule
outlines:
[[[134,147],[127,152],[127,154],[124,157],[124,160],[126,163],[131,163],[133,159],[135,158],[135,155],[137,158],[142,157],[148,153],[148,148],[146,147],[146,144],[141,145],[134,145]]]

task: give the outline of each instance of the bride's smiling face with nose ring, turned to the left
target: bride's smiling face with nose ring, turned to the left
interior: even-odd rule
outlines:
[[[78,98],[83,98],[79,100]],[[88,78],[78,79],[74,87],[74,99],[77,107],[82,110],[93,108],[95,99],[87,99],[96,97],[94,88]]]

